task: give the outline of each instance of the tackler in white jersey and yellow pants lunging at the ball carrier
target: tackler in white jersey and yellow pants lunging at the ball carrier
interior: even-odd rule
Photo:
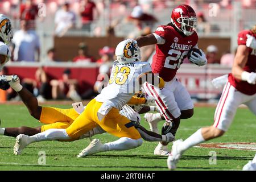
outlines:
[[[119,114],[119,110],[127,104],[134,94],[129,86],[138,84],[138,75],[150,73],[148,63],[138,62],[141,55],[135,40],[124,40],[115,49],[117,60],[112,68],[109,84],[100,94],[86,106],[85,110],[77,117],[67,129],[49,129],[28,137],[18,135],[14,146],[14,154],[21,154],[23,149],[30,143],[43,140],[68,140],[80,137],[94,127],[100,126],[106,132],[119,137],[112,144],[101,144],[100,140],[94,139],[89,147],[82,151],[81,156],[95,154],[101,151],[129,150],[141,146],[142,139],[134,123]],[[163,88],[164,82],[158,77],[159,88]],[[129,90],[130,89],[130,90]],[[127,92],[129,90],[130,92]],[[170,140],[174,137],[170,136]]]

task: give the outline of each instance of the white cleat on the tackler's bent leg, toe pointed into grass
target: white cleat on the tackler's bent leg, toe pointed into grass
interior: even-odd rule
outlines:
[[[89,146],[87,146],[84,150],[80,152],[79,155],[77,155],[77,158],[83,158],[84,156],[96,154],[103,151],[106,151],[106,147],[104,146],[104,144],[102,144],[99,139],[93,139],[92,142],[90,142]]]

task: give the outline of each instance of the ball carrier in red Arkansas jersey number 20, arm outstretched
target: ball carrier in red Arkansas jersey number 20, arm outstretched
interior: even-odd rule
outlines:
[[[196,13],[188,5],[180,5],[172,10],[171,23],[159,26],[153,34],[137,38],[138,46],[156,45],[156,53],[152,61],[152,72],[158,73],[166,82],[163,89],[145,83],[145,92],[155,98],[160,113],[145,114],[145,118],[154,132],[158,132],[157,123],[166,120],[162,133],[176,134],[180,119],[187,119],[193,115],[193,102],[185,87],[176,79],[177,69],[180,68],[191,48],[197,47],[198,36]],[[197,65],[207,64],[203,51],[195,53],[189,60]],[[171,123],[171,124],[170,124]],[[155,155],[168,155],[167,143],[159,143]]]

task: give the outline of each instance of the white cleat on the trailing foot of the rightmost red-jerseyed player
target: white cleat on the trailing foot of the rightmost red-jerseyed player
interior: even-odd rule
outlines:
[[[174,144],[172,144],[172,152],[167,159],[167,166],[168,166],[168,169],[170,170],[176,169],[176,164],[177,162],[179,162],[180,156],[182,155],[182,153],[177,149],[177,147],[182,142],[183,140],[179,139],[179,140],[176,140]]]

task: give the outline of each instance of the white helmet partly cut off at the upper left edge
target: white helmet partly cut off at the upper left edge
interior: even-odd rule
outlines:
[[[0,14],[0,38],[5,44],[9,44],[13,39],[13,26],[11,21],[5,15]]]

